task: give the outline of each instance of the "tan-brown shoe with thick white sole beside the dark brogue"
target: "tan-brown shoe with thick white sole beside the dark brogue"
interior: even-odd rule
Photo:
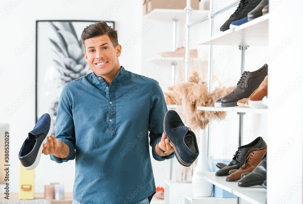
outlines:
[[[248,99],[248,105],[250,108],[266,108],[267,106],[263,105],[262,99],[267,96],[267,79],[268,76],[265,76],[263,82],[260,84],[258,89],[256,89]]]

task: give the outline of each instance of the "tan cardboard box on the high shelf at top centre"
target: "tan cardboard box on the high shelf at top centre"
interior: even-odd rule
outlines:
[[[186,0],[147,0],[147,13],[155,8],[184,9]],[[199,9],[199,0],[191,0],[191,8]]]

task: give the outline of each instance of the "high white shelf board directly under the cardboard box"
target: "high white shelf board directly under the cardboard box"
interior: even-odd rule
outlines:
[[[208,16],[209,10],[192,10],[191,11],[191,21],[196,21],[198,19],[201,19],[205,16]],[[184,9],[161,9],[156,8],[149,12],[148,14],[144,15],[144,18],[151,18],[151,19],[157,19],[157,20],[179,20],[179,19],[185,19],[185,10]]]

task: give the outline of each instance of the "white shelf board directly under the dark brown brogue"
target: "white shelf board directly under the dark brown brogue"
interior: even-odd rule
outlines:
[[[241,107],[241,106],[235,106],[235,107],[203,107],[198,106],[198,110],[202,111],[228,111],[228,112],[240,112],[240,113],[258,113],[258,114],[266,114],[268,111],[267,108],[248,108],[248,107]]]

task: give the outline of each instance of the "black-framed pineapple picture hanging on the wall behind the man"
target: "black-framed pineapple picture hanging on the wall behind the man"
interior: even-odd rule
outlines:
[[[95,22],[36,21],[36,121],[49,113],[55,125],[65,84],[92,72],[83,54],[81,34]],[[106,23],[115,29],[113,21]]]

